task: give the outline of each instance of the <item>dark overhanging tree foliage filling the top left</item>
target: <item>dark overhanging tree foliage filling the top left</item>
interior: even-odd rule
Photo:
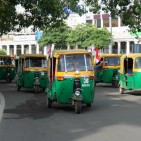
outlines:
[[[33,25],[33,30],[45,29],[47,26],[58,26],[68,17],[70,10],[84,12],[78,7],[79,0],[1,0],[0,1],[0,35],[11,30],[21,30]],[[20,4],[24,12],[17,13]]]

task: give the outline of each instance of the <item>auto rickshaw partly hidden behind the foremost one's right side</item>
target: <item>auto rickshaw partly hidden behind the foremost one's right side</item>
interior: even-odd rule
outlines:
[[[95,84],[111,83],[114,87],[118,87],[120,57],[120,54],[101,55],[101,60],[94,66]]]

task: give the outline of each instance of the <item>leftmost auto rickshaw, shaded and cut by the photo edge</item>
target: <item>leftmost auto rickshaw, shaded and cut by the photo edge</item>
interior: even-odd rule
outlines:
[[[15,78],[14,56],[0,55],[0,80],[11,82]]]

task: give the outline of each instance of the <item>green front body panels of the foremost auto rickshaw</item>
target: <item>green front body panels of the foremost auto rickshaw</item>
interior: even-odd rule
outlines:
[[[89,79],[89,78],[88,78]],[[89,80],[87,84],[84,83],[84,78],[80,78],[81,94],[78,99],[82,103],[92,103],[94,99],[94,81]],[[74,78],[65,78],[63,81],[55,80],[51,88],[47,88],[46,94],[52,100],[57,100],[60,104],[71,103],[74,98]],[[48,85],[49,86],[49,85]]]

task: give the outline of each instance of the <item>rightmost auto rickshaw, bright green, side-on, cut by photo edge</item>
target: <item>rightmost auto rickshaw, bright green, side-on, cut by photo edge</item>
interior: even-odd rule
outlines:
[[[121,57],[119,91],[141,90],[141,54],[128,54]]]

